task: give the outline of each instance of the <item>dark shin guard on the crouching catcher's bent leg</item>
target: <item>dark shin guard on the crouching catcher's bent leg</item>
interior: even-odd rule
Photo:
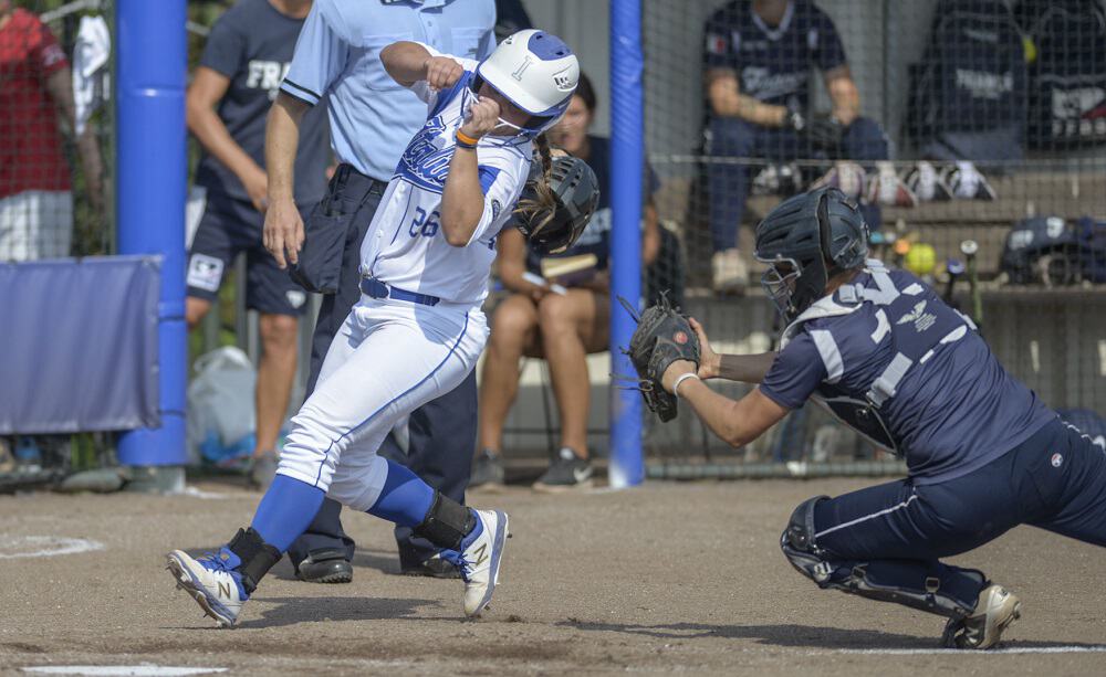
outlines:
[[[780,538],[787,561],[818,588],[895,602],[949,618],[964,618],[987,578],[974,569],[960,569],[920,560],[835,560],[817,546],[814,506],[827,496],[807,499],[795,508]]]

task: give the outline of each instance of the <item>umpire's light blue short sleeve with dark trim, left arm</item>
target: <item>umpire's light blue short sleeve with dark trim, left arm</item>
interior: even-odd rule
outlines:
[[[281,92],[314,106],[342,74],[348,54],[349,45],[330,24],[323,2],[315,2],[295,41]]]

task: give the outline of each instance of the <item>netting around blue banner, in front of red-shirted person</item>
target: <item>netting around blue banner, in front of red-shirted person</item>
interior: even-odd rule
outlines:
[[[13,0],[0,14],[0,265],[116,252],[113,7]],[[108,446],[102,433],[0,437],[0,491],[93,467]]]

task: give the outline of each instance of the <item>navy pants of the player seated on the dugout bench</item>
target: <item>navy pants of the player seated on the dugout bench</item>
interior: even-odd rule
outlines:
[[[760,127],[735,117],[716,117],[710,120],[710,142],[707,154],[712,158],[764,158],[779,162],[795,159],[825,159],[827,154],[815,150],[805,139],[787,129]],[[838,152],[828,159],[866,160],[888,158],[887,137],[874,120],[858,117],[845,129]],[[738,246],[738,226],[745,212],[749,194],[749,165],[708,165],[710,190],[710,233],[716,252]],[[879,208],[862,205],[864,219],[875,231],[879,229]]]

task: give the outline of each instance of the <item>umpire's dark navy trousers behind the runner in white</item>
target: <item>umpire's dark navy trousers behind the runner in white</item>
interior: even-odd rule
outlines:
[[[319,370],[326,350],[354,304],[361,298],[361,243],[365,239],[373,215],[380,203],[387,184],[358,173],[353,167],[342,165],[328,187],[328,228],[345,228],[345,246],[342,251],[342,271],[337,294],[323,297],[311,345],[311,373],[307,379],[310,395],[315,388]],[[323,215],[322,204],[316,205],[309,219]],[[335,214],[340,216],[335,219]],[[306,229],[311,232],[311,228]],[[452,392],[424,404],[410,415],[410,434],[406,458],[394,441],[388,438],[383,453],[404,463],[431,487],[453,500],[465,503],[465,488],[469,484],[472,452],[477,437],[477,379],[476,372]],[[354,542],[342,529],[342,506],[327,498],[307,530],[292,543],[288,556],[300,565],[309,553],[325,549],[343,549],[346,559],[353,559]],[[434,554],[437,549],[424,539],[411,538],[410,529],[396,527],[396,541],[405,565],[415,565]]]

